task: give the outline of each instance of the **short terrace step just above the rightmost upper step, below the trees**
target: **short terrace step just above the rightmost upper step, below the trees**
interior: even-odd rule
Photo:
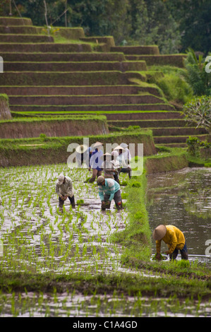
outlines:
[[[159,54],[157,45],[152,46],[114,46],[111,52],[123,52],[124,54]]]

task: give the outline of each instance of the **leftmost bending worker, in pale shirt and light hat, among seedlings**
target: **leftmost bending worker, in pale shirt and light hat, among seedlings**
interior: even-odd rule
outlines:
[[[73,183],[70,177],[60,174],[56,181],[56,194],[59,196],[59,211],[63,211],[64,201],[69,198],[72,208],[75,208]]]

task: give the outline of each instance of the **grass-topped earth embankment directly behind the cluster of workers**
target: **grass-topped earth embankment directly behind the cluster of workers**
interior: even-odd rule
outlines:
[[[83,144],[84,136],[67,136],[46,138],[26,138],[17,140],[6,140],[0,146],[0,167],[24,166],[24,165],[49,165],[67,162],[69,155],[68,145],[71,143]],[[133,143],[130,147],[132,157],[138,153],[138,143],[143,143],[143,155],[156,153],[155,144],[150,134],[134,132],[126,134],[104,134],[88,136],[89,145],[96,141],[111,145],[117,143]],[[106,151],[105,151],[106,152]]]

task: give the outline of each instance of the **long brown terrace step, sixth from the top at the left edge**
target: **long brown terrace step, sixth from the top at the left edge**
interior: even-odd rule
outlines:
[[[145,71],[145,61],[7,62],[4,71]]]

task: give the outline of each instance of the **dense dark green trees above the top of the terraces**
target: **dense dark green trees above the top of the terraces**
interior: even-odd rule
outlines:
[[[46,0],[47,20],[54,26],[81,26],[86,35],[113,35],[116,45],[159,46],[161,53],[188,47],[211,51],[210,0]],[[8,16],[10,0],[1,0]],[[44,0],[11,1],[13,16],[45,25]],[[16,6],[15,6],[16,4]],[[19,12],[19,13],[18,13]]]

